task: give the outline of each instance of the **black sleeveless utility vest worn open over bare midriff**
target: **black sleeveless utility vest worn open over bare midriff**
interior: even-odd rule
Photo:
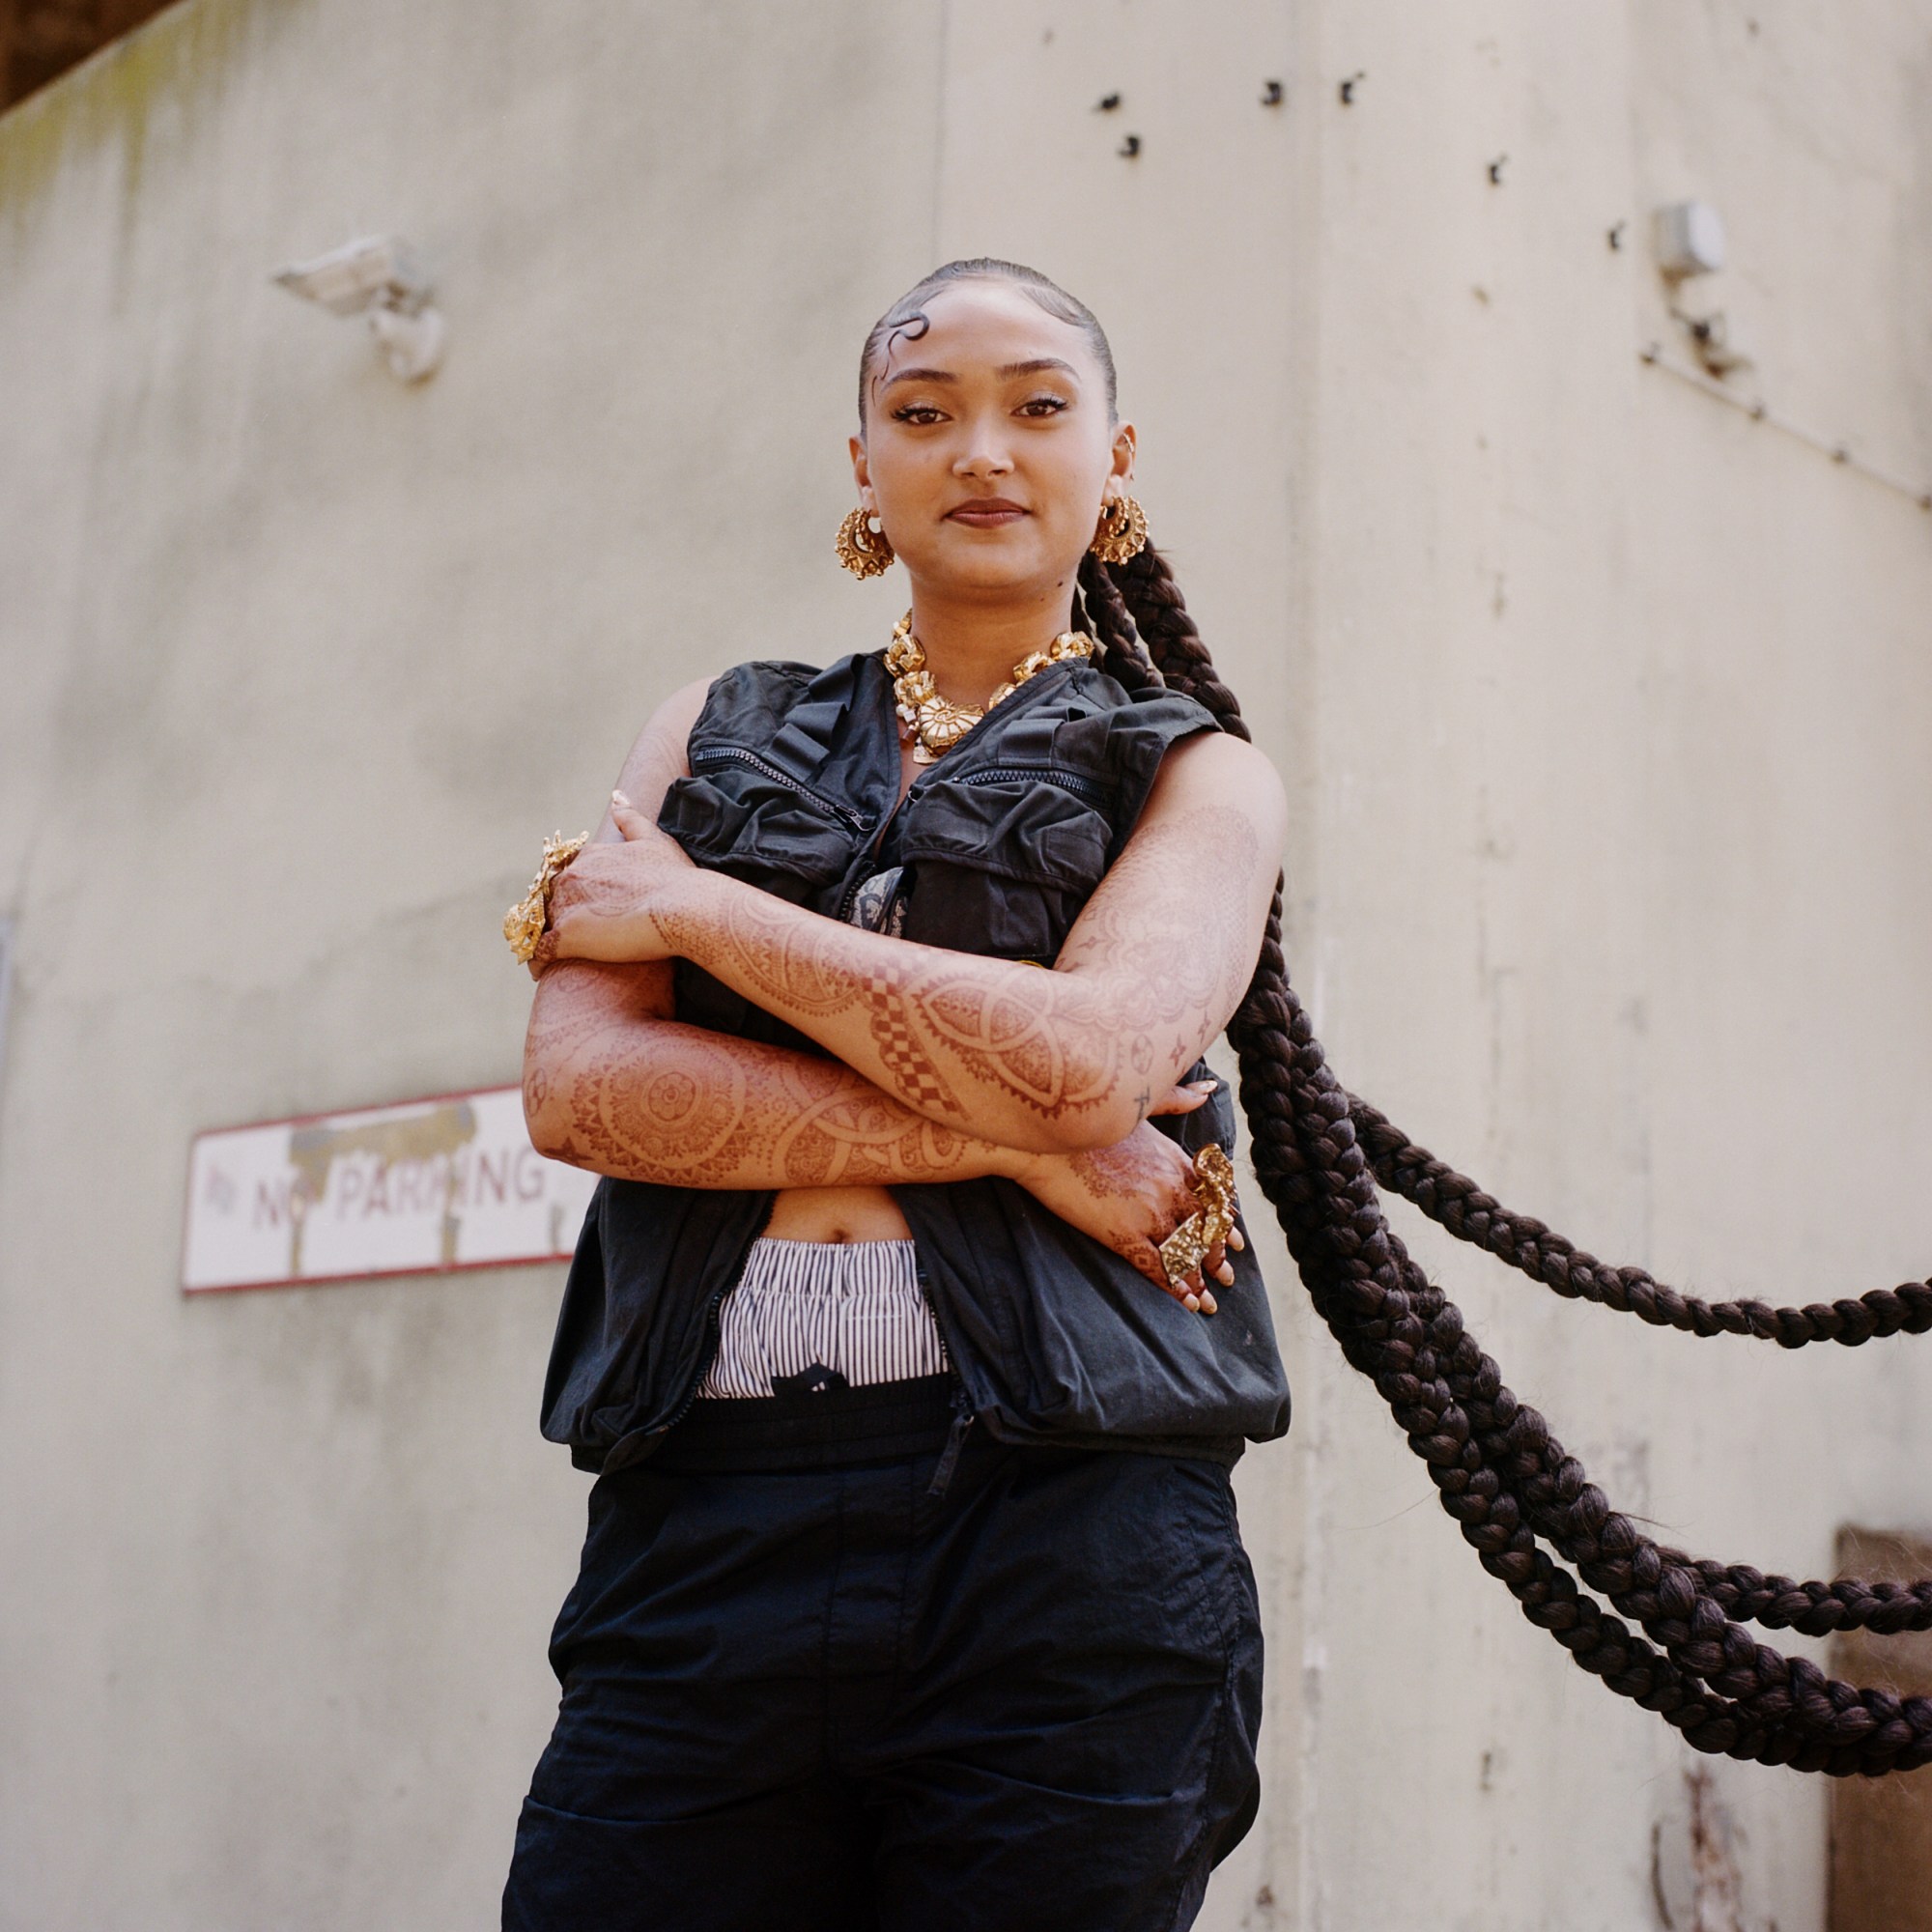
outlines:
[[[1041,670],[989,711],[895,811],[898,724],[883,653],[827,670],[724,672],[692,728],[690,777],[659,825],[699,866],[829,918],[923,945],[1051,966],[1146,804],[1167,748],[1213,717],[1130,696],[1088,663]],[[678,1018],[821,1053],[680,960]],[[1196,1074],[1204,1068],[1196,1068]],[[1153,1122],[1233,1148],[1225,1088]],[[1231,1256],[1221,1312],[1188,1314],[1010,1180],[896,1186],[964,1399],[1010,1443],[1233,1461],[1289,1426],[1260,1271]],[[769,1192],[603,1179],[578,1238],[543,1391],[543,1434],[580,1468],[622,1468],[692,1405],[717,1306],[771,1215]]]

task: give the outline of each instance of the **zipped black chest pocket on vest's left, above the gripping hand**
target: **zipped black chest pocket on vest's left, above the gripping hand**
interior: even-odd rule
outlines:
[[[748,746],[692,748],[657,815],[690,860],[804,904],[842,879],[869,831],[862,811],[794,779]]]

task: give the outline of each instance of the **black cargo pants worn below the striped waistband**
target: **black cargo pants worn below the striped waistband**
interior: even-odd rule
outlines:
[[[968,1435],[591,1492],[514,1932],[1167,1932],[1254,1822],[1227,1470]]]

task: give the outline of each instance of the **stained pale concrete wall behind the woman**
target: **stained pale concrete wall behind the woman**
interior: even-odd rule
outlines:
[[[1932,481],[1928,81],[1926,0],[185,0],[0,118],[0,1926],[489,1922],[582,1520],[558,1275],[182,1302],[187,1140],[514,1076],[541,833],[670,686],[896,614],[831,529],[933,259],[1107,319],[1343,1078],[1687,1287],[1924,1273],[1932,518],[1638,350],[1706,195],[1745,386]],[[369,230],[439,276],[419,390],[267,282]],[[1416,1244],[1667,1540],[1932,1530],[1924,1345]],[[1689,1924],[1690,1754],[1273,1281],[1267,1806],[1204,1924]],[[1712,1776],[1735,1922],[1820,1926],[1824,1793]]]

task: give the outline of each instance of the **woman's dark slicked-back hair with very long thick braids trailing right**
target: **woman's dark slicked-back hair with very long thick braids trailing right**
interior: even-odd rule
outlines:
[[[935,270],[873,327],[860,365],[862,419],[867,377],[885,346],[895,334],[923,334],[920,305],[954,280],[1014,282],[1049,315],[1078,327],[1105,371],[1113,410],[1113,355],[1095,317],[1032,269],[978,259]],[[1076,622],[1099,639],[1099,661],[1121,684],[1165,684],[1198,699],[1221,730],[1250,736],[1167,560],[1151,545],[1124,564],[1088,554],[1076,603]],[[1441,1507],[1524,1617],[1698,1750],[1832,1776],[1932,1762],[1932,1698],[1839,1683],[1745,1629],[1932,1629],[1932,1578],[1797,1582],[1652,1542],[1609,1507],[1549,1424],[1503,1385],[1461,1310],[1391,1233],[1378,1184],[1557,1294],[1692,1335],[1750,1335],[1785,1349],[1920,1335],[1932,1329],[1932,1283],[1808,1308],[1702,1302],[1640,1267],[1605,1265],[1542,1221],[1511,1213],[1335,1078],[1289,983],[1279,879],[1254,981],[1227,1037],[1240,1066],[1254,1175],[1316,1312],[1389,1405]]]

